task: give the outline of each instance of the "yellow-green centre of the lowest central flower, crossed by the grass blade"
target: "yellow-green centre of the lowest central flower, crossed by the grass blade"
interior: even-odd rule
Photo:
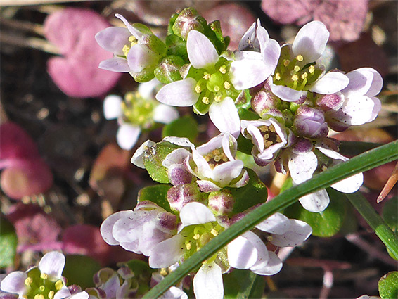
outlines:
[[[215,221],[184,227],[180,233],[184,237],[184,247],[181,248],[184,252],[184,260],[191,257],[193,253],[200,250],[200,248],[205,246],[212,238],[218,236],[222,231],[224,231],[224,227]],[[214,262],[216,257],[217,253],[205,262]]]

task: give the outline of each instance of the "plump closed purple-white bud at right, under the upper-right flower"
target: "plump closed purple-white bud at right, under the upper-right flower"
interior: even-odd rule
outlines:
[[[308,106],[297,109],[293,129],[296,134],[309,138],[323,138],[328,135],[328,124],[323,111]]]

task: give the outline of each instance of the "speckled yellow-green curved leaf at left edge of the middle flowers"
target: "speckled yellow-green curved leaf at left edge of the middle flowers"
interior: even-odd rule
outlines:
[[[143,165],[145,165],[148,174],[155,182],[162,184],[169,183],[167,168],[162,165],[162,162],[165,160],[166,156],[176,148],[179,148],[179,146],[170,144],[167,141],[162,141],[145,151],[143,155]]]

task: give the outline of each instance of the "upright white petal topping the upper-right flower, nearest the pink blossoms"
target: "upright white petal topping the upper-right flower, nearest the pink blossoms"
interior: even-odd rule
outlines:
[[[297,32],[293,42],[295,56],[301,54],[307,63],[316,61],[325,51],[329,35],[328,29],[323,23],[319,21],[307,23]]]

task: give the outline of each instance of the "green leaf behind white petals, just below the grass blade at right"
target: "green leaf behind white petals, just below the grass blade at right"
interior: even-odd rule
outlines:
[[[323,212],[309,212],[302,208],[300,203],[295,203],[285,209],[284,214],[289,218],[302,220],[311,225],[313,236],[334,236],[340,231],[345,219],[346,199],[339,193],[334,189],[328,189],[330,203]]]

